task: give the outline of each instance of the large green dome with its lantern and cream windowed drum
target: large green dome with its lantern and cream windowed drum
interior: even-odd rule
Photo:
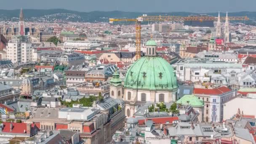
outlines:
[[[156,54],[157,43],[146,43],[146,56],[129,67],[124,81],[125,115],[132,117],[138,103],[176,101],[178,89],[173,67]]]

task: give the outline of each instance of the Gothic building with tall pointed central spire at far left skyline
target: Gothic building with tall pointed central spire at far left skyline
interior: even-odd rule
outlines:
[[[40,27],[25,27],[24,14],[22,8],[19,15],[18,27],[7,27],[4,24],[1,33],[8,41],[11,40],[11,37],[15,35],[26,35],[28,37],[29,42],[40,43]]]

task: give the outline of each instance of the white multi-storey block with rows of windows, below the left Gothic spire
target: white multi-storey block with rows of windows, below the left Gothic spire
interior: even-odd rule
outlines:
[[[33,61],[32,43],[28,42],[26,36],[13,36],[5,51],[7,59],[11,59],[13,63]]]

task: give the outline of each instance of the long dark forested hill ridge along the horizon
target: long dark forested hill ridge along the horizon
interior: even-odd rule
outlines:
[[[0,21],[19,21],[20,10],[0,10]],[[79,22],[107,22],[109,18],[136,18],[142,14],[151,16],[189,16],[190,12],[170,12],[170,13],[139,13],[139,12],[123,12],[123,11],[92,11],[92,12],[79,12],[69,11],[65,9],[49,9],[49,10],[34,10],[24,9],[24,17],[26,21],[79,21]],[[208,14],[211,16],[217,16],[218,13],[200,13]],[[225,13],[221,13],[221,16],[225,16]],[[256,18],[256,12],[235,12],[229,13],[229,16],[248,16],[251,19]]]

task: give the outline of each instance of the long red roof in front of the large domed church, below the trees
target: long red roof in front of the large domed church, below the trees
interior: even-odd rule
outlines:
[[[152,120],[155,124],[165,124],[167,122],[173,123],[174,120],[179,120],[178,117],[153,117],[153,118],[146,118],[147,120]],[[145,120],[138,120],[139,125],[145,125]]]

